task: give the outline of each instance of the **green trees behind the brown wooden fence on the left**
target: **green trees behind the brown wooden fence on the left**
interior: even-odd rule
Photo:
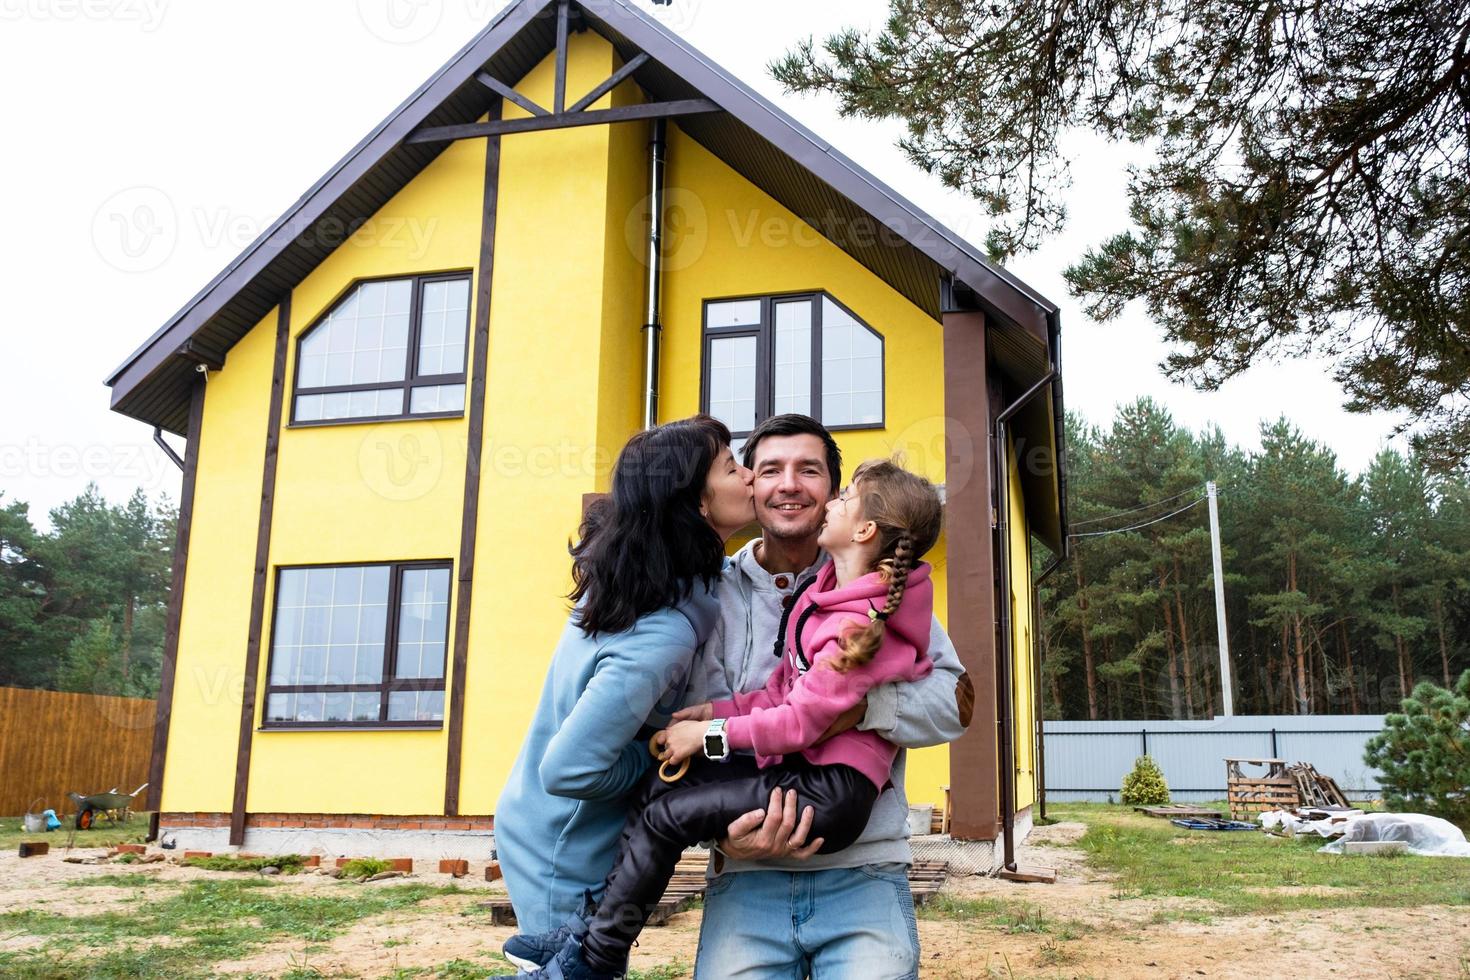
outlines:
[[[0,686],[157,696],[176,510],[88,485],[50,517],[0,498]]]

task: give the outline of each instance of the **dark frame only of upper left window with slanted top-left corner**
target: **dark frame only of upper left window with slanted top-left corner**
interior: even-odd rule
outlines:
[[[301,388],[301,345],[306,338],[310,336],[316,328],[322,326],[326,319],[337,311],[340,306],[347,303],[360,287],[372,282],[395,282],[395,281],[412,281],[412,292],[409,295],[409,338],[407,351],[403,366],[403,381],[397,382],[366,382],[360,385],[319,385],[316,388]],[[465,370],[456,375],[423,375],[419,376],[419,339],[423,332],[423,287],[429,282],[454,282],[463,279],[466,284],[466,291],[469,297],[469,306],[465,310]],[[410,411],[413,406],[413,389],[415,388],[435,388],[438,385],[465,385],[465,403],[469,404],[469,363],[470,363],[470,336],[473,335],[472,314],[475,311],[475,275],[470,269],[460,269],[451,272],[420,272],[420,273],[397,273],[384,276],[362,276],[353,279],[347,287],[323,309],[316,319],[307,325],[295,336],[295,351],[294,361],[291,367],[291,417],[287,422],[290,429],[309,429],[316,426],[329,425],[357,425],[362,422],[403,422],[410,419],[463,419],[465,410],[457,411]],[[335,395],[353,391],[391,391],[400,388],[403,391],[403,411],[398,414],[387,416],[351,416],[345,419],[297,419],[295,417],[295,403],[301,395]]]

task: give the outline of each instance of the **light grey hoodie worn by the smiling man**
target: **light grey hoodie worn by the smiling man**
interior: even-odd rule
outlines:
[[[757,539],[759,541],[759,539]],[[800,574],[772,574],[756,561],[756,541],[741,548],[725,569],[714,592],[719,598],[719,619],[700,654],[695,657],[689,680],[688,704],[729,698],[735,692],[761,688],[776,669],[779,655],[772,652],[781,627],[782,599],[816,574],[826,561],[819,554],[816,564]],[[822,871],[826,868],[856,868],[864,864],[897,861],[910,864],[908,798],[904,796],[906,748],[941,745],[960,738],[960,710],[954,686],[964,673],[939,620],[933,620],[929,638],[933,671],[914,683],[883,685],[867,693],[867,714],[858,729],[878,732],[900,746],[894,760],[894,785],[873,804],[867,829],[853,846],[835,854],[817,854],[806,861],[781,858],[772,861],[726,861],[726,871]]]

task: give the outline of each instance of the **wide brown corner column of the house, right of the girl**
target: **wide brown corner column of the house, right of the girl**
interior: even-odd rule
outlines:
[[[950,639],[975,683],[970,727],[950,743],[950,833],[1000,833],[995,730],[995,548],[991,532],[991,410],[985,314],[944,314],[945,535]]]

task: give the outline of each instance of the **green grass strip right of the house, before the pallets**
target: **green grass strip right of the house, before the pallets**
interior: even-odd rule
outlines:
[[[1470,874],[1452,858],[1317,854],[1326,843],[1317,836],[1185,830],[1104,804],[1054,804],[1050,810],[1088,824],[1078,846],[1092,868],[1116,876],[1117,898],[1204,899],[1222,915],[1470,905]]]

